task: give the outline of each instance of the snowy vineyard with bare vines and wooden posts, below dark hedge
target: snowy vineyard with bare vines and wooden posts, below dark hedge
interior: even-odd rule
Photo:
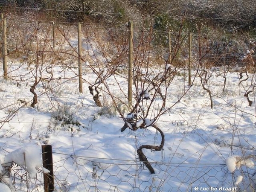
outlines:
[[[49,191],[255,191],[254,36],[11,16],[0,189],[43,192],[51,145]]]

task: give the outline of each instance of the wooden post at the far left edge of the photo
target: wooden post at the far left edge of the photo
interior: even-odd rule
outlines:
[[[3,38],[3,77],[4,79],[7,79],[7,35],[6,35],[6,17],[3,17],[3,13],[1,13],[1,19],[2,19],[2,38]]]

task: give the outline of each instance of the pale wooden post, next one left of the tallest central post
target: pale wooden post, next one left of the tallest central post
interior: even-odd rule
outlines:
[[[78,76],[79,76],[79,93],[83,93],[83,79],[82,79],[82,44],[81,44],[81,23],[78,23]]]

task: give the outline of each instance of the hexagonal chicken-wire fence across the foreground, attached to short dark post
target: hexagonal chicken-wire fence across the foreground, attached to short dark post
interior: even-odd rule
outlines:
[[[241,168],[244,181],[237,185],[236,174],[228,171],[225,162],[151,162],[156,170],[151,175],[137,159],[86,157],[60,152],[52,155],[56,192],[255,191],[255,172]],[[26,166],[16,163],[5,166],[5,170],[1,182],[12,186],[13,190],[48,192],[44,189],[41,168],[37,169],[36,177],[30,177]],[[12,184],[6,180],[6,175]]]

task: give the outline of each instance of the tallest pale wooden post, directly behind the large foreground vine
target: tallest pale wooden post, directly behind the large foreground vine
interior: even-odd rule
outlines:
[[[133,84],[133,21],[128,23],[128,104],[132,105],[132,84]]]

